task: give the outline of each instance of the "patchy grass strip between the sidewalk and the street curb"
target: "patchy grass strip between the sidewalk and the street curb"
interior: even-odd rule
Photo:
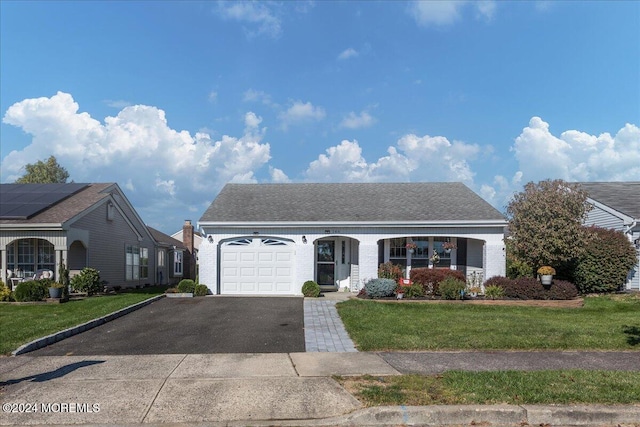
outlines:
[[[448,371],[440,375],[334,378],[364,406],[640,403],[640,372]]]

